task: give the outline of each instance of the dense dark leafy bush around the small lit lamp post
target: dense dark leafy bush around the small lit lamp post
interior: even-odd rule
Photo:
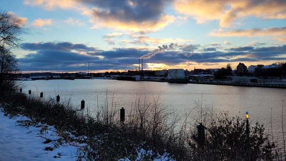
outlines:
[[[246,120],[229,118],[227,114],[213,120],[205,128],[205,140],[200,143],[196,133],[189,145],[194,160],[273,160],[274,144],[269,142],[263,125],[258,122],[246,133]]]

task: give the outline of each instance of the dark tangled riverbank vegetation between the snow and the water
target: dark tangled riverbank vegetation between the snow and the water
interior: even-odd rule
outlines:
[[[230,117],[227,113],[216,114],[202,100],[184,117],[167,110],[160,103],[160,96],[152,102],[146,96],[138,96],[125,121],[119,119],[119,108],[106,95],[105,106],[100,107],[97,117],[83,113],[68,104],[58,104],[27,96],[19,92],[18,84],[5,81],[1,86],[0,101],[5,112],[11,116],[21,114],[35,122],[53,125],[63,141],[85,142],[85,154],[81,160],[135,160],[138,149],[152,150],[141,156],[154,160],[158,154],[176,160],[283,160],[285,153],[275,145],[270,134],[258,122],[250,124],[246,131],[246,120]],[[195,123],[203,126],[190,127],[190,113],[197,113]],[[30,123],[27,123],[30,124]],[[31,124],[32,125],[32,124]],[[202,129],[201,129],[202,130]],[[55,148],[51,147],[50,149]]]

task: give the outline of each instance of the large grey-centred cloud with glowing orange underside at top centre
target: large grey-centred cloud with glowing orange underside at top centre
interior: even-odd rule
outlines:
[[[107,27],[146,33],[159,31],[174,22],[174,16],[164,13],[164,7],[170,1],[173,0],[25,0],[24,4],[47,10],[76,10],[91,18],[92,29]]]

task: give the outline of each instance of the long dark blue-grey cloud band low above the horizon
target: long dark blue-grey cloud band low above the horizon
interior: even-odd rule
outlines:
[[[220,51],[218,47],[201,48],[199,44],[164,45],[155,50],[121,48],[109,51],[98,50],[85,44],[70,42],[23,43],[22,49],[33,53],[18,59],[23,71],[85,71],[87,63],[90,70],[129,70],[138,63],[140,56],[150,56],[147,63],[176,66],[179,64],[204,63],[216,64],[222,62],[261,62],[285,61],[286,45],[253,47],[240,46]],[[164,52],[164,53],[163,53]],[[153,53],[148,55],[146,53]]]

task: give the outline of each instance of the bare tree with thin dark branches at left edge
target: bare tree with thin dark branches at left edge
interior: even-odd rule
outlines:
[[[0,87],[7,74],[17,71],[17,60],[12,49],[21,42],[21,19],[0,10]]]

